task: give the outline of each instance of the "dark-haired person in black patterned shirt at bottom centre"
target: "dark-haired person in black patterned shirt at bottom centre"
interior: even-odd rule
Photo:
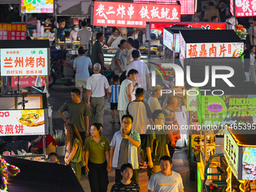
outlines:
[[[111,187],[111,192],[124,192],[124,191],[136,191],[140,192],[139,184],[132,181],[133,177],[133,166],[130,163],[125,163],[120,168],[120,173],[123,179],[117,182]]]

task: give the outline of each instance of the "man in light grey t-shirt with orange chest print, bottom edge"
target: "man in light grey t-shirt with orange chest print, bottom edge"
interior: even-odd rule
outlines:
[[[160,158],[160,172],[154,173],[148,181],[148,192],[184,192],[181,175],[172,171],[172,158]]]

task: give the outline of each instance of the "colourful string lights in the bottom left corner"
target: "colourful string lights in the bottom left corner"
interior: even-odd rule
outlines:
[[[2,181],[3,181],[3,184],[4,184],[4,189],[0,189],[0,191],[4,192],[4,191],[8,191],[8,187],[7,187],[8,172],[10,172],[12,174],[12,176],[16,176],[20,172],[20,168],[17,167],[17,166],[11,165],[10,163],[7,163],[5,161],[5,159],[2,158],[1,155],[0,155],[0,165],[1,165],[1,171],[2,171]],[[8,171],[8,168],[9,169],[14,169],[15,173],[12,173],[11,171]]]

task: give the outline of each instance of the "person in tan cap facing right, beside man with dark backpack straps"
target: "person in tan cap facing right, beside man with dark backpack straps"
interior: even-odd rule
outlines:
[[[162,109],[160,102],[158,101],[158,98],[162,96],[161,90],[163,90],[163,87],[157,84],[152,90],[152,96],[148,99],[148,105],[151,108],[152,113],[158,109]]]

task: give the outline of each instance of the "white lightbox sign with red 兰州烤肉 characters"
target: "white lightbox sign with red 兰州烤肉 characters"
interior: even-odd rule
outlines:
[[[47,48],[1,49],[1,76],[48,75]]]

